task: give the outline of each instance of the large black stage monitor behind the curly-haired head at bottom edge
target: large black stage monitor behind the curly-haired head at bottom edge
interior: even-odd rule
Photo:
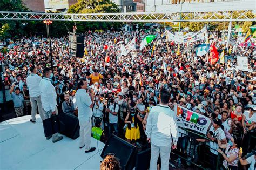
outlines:
[[[102,150],[101,157],[105,158],[109,154],[114,154],[118,158],[121,168],[130,170],[135,166],[137,153],[136,146],[112,134]]]

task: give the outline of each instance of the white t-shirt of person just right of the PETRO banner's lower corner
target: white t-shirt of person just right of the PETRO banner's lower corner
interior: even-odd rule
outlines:
[[[216,131],[214,131],[213,125],[210,128],[210,131],[213,132],[215,138],[222,140],[226,139],[225,132],[219,127]],[[218,144],[216,142],[210,141],[210,150],[213,154],[218,155]]]

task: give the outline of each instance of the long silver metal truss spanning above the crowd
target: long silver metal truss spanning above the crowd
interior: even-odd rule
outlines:
[[[248,17],[252,12],[253,17]],[[207,18],[205,14],[207,13]],[[233,14],[236,15],[233,15]],[[238,15],[239,13],[239,15]],[[34,13],[0,11],[0,20],[51,20],[51,21],[97,21],[97,22],[236,22],[256,21],[252,10],[217,12],[134,12],[134,13]]]

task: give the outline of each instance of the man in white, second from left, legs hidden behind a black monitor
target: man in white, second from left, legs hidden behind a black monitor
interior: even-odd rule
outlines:
[[[44,78],[41,80],[39,87],[40,87],[40,96],[44,110],[44,118],[49,119],[52,115],[58,114],[57,110],[57,94],[55,91],[54,86],[51,84],[51,77],[52,71],[50,68],[45,68],[44,71]],[[46,137],[49,140],[50,137]],[[52,142],[55,143],[57,141],[62,140],[63,137],[58,136],[58,132],[52,134]]]

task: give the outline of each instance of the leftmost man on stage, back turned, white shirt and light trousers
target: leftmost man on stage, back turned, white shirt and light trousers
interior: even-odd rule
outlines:
[[[38,111],[42,121],[44,120],[44,111],[43,111],[43,106],[40,98],[40,89],[39,89],[39,84],[40,84],[40,81],[42,80],[42,77],[37,75],[37,69],[35,66],[31,66],[29,70],[30,70],[30,75],[28,76],[28,78],[26,78],[26,84],[29,87],[29,97],[30,97],[30,102],[32,107],[30,121],[32,123],[36,123],[37,107],[38,107]]]

